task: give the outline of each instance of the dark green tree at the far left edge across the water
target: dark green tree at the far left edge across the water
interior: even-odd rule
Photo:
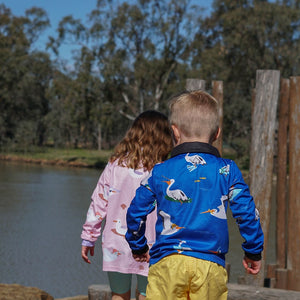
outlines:
[[[32,8],[25,16],[13,16],[0,5],[0,145],[43,144],[45,96],[51,76],[51,61],[33,51],[39,34],[49,20],[42,9]]]

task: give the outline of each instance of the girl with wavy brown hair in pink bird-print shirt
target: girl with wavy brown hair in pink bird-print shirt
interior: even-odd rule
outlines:
[[[137,274],[138,299],[145,299],[148,263],[136,262],[125,240],[126,212],[135,190],[156,163],[165,160],[172,148],[167,117],[157,111],[141,113],[116,146],[92,194],[81,234],[81,256],[91,263],[94,244],[102,234],[103,271],[107,271],[112,299],[129,300],[131,275]],[[154,204],[153,204],[154,205]],[[146,236],[149,246],[155,240],[155,212],[148,216]]]

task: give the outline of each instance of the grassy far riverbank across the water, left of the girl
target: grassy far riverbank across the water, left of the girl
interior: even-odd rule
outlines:
[[[111,150],[37,148],[30,152],[2,152],[0,160],[103,169]]]

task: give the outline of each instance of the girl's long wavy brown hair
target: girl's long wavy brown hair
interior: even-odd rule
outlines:
[[[168,118],[155,110],[141,113],[115,147],[110,162],[119,160],[124,167],[150,171],[156,163],[167,159],[172,149]]]

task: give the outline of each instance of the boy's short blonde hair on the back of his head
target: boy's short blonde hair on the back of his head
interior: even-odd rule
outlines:
[[[185,91],[169,102],[170,123],[187,138],[208,138],[212,142],[219,129],[218,101],[208,93]]]

